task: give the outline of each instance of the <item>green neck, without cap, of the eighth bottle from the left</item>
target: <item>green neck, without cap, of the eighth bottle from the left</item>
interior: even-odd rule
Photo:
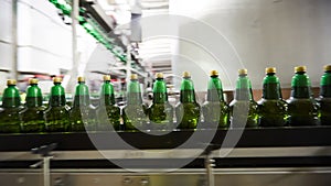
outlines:
[[[194,86],[193,86],[193,81],[191,80],[191,78],[183,78],[183,80],[182,80],[180,101],[183,103],[196,102]]]

